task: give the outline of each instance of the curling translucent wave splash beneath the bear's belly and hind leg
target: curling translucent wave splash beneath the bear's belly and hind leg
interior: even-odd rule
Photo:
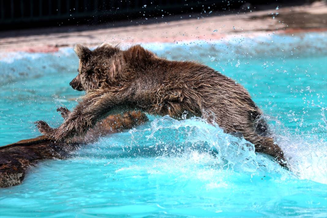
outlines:
[[[254,145],[241,133],[227,134],[217,124],[210,125],[198,117],[175,120],[164,116],[151,122],[149,128],[134,128],[129,133],[131,142],[125,150],[135,155],[151,150],[150,153],[158,157],[174,156],[178,163],[193,159],[197,164],[209,164],[218,171],[242,172],[250,176],[274,174],[279,179],[295,177],[271,157],[256,154]],[[178,163],[174,162],[173,166]]]

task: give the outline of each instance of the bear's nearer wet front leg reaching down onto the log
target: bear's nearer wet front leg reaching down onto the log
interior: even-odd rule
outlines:
[[[84,97],[58,128],[51,128],[44,121],[35,122],[39,131],[56,141],[82,136],[96,122],[104,118],[123,98],[113,93],[94,92]]]

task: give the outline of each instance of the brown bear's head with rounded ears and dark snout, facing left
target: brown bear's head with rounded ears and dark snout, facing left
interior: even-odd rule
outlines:
[[[86,46],[77,44],[74,51],[79,58],[78,75],[69,83],[73,89],[87,93],[101,87],[108,81],[112,68],[112,57],[120,51],[109,43],[103,43],[91,51]]]

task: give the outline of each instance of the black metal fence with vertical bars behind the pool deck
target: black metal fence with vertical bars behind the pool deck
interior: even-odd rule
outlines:
[[[260,0],[248,1],[254,4],[262,3]],[[276,0],[264,1],[275,2]],[[279,0],[279,2],[284,2]],[[64,21],[65,24],[74,24],[80,21],[86,23],[87,19],[96,22],[119,16],[126,19],[129,16],[141,17],[144,12],[153,15],[162,10],[185,13],[201,11],[204,7],[239,8],[246,2],[243,0],[0,0],[0,25],[3,28],[24,28],[31,25],[54,25]],[[146,6],[145,6],[146,5]]]

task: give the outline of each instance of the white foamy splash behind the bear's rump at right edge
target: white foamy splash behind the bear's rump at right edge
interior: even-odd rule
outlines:
[[[322,109],[322,117],[323,115]],[[270,137],[276,139],[276,143],[289,159],[290,170],[300,179],[327,184],[326,139],[313,134],[326,131],[326,126],[321,125],[321,130],[314,128],[307,133],[291,133],[277,118],[268,115],[264,115],[263,118],[269,121],[272,131]],[[292,120],[292,116],[289,119]],[[303,120],[299,120],[297,124],[301,126],[302,123]]]

